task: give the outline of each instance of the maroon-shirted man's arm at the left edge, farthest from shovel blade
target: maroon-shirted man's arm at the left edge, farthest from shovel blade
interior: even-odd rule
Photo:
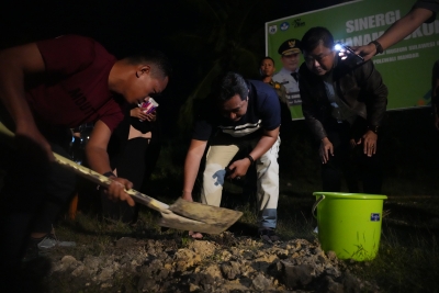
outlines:
[[[49,144],[36,127],[24,90],[26,76],[45,71],[38,47],[31,43],[4,49],[0,52],[0,100],[15,123],[15,137],[29,137],[53,159]]]

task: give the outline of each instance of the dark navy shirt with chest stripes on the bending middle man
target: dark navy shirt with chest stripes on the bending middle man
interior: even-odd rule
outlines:
[[[209,140],[213,132],[221,131],[234,137],[254,134],[259,129],[272,131],[281,124],[281,110],[275,91],[258,80],[247,80],[249,89],[247,113],[237,122],[224,117],[207,98],[198,114],[192,138]]]

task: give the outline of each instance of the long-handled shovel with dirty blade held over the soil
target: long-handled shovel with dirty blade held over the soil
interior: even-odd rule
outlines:
[[[10,137],[14,135],[1,122],[0,133]],[[58,154],[54,153],[54,156],[55,161],[58,165],[99,185],[106,188],[112,182],[110,178],[78,165]],[[243,215],[243,213],[238,211],[189,202],[181,198],[179,198],[173,204],[168,205],[133,189],[126,190],[125,192],[130,194],[135,202],[145,204],[146,206],[160,212],[162,216],[158,223],[160,226],[175,229],[219,234],[232,226]]]

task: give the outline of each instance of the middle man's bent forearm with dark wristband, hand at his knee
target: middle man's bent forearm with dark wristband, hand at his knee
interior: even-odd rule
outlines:
[[[275,143],[279,136],[279,126],[272,131],[263,131],[261,138],[255,148],[250,151],[250,156],[254,160],[259,159],[266,154]],[[244,158],[234,161],[228,168],[233,171],[229,178],[243,177],[247,173],[248,168],[251,166],[252,161],[249,158]]]

